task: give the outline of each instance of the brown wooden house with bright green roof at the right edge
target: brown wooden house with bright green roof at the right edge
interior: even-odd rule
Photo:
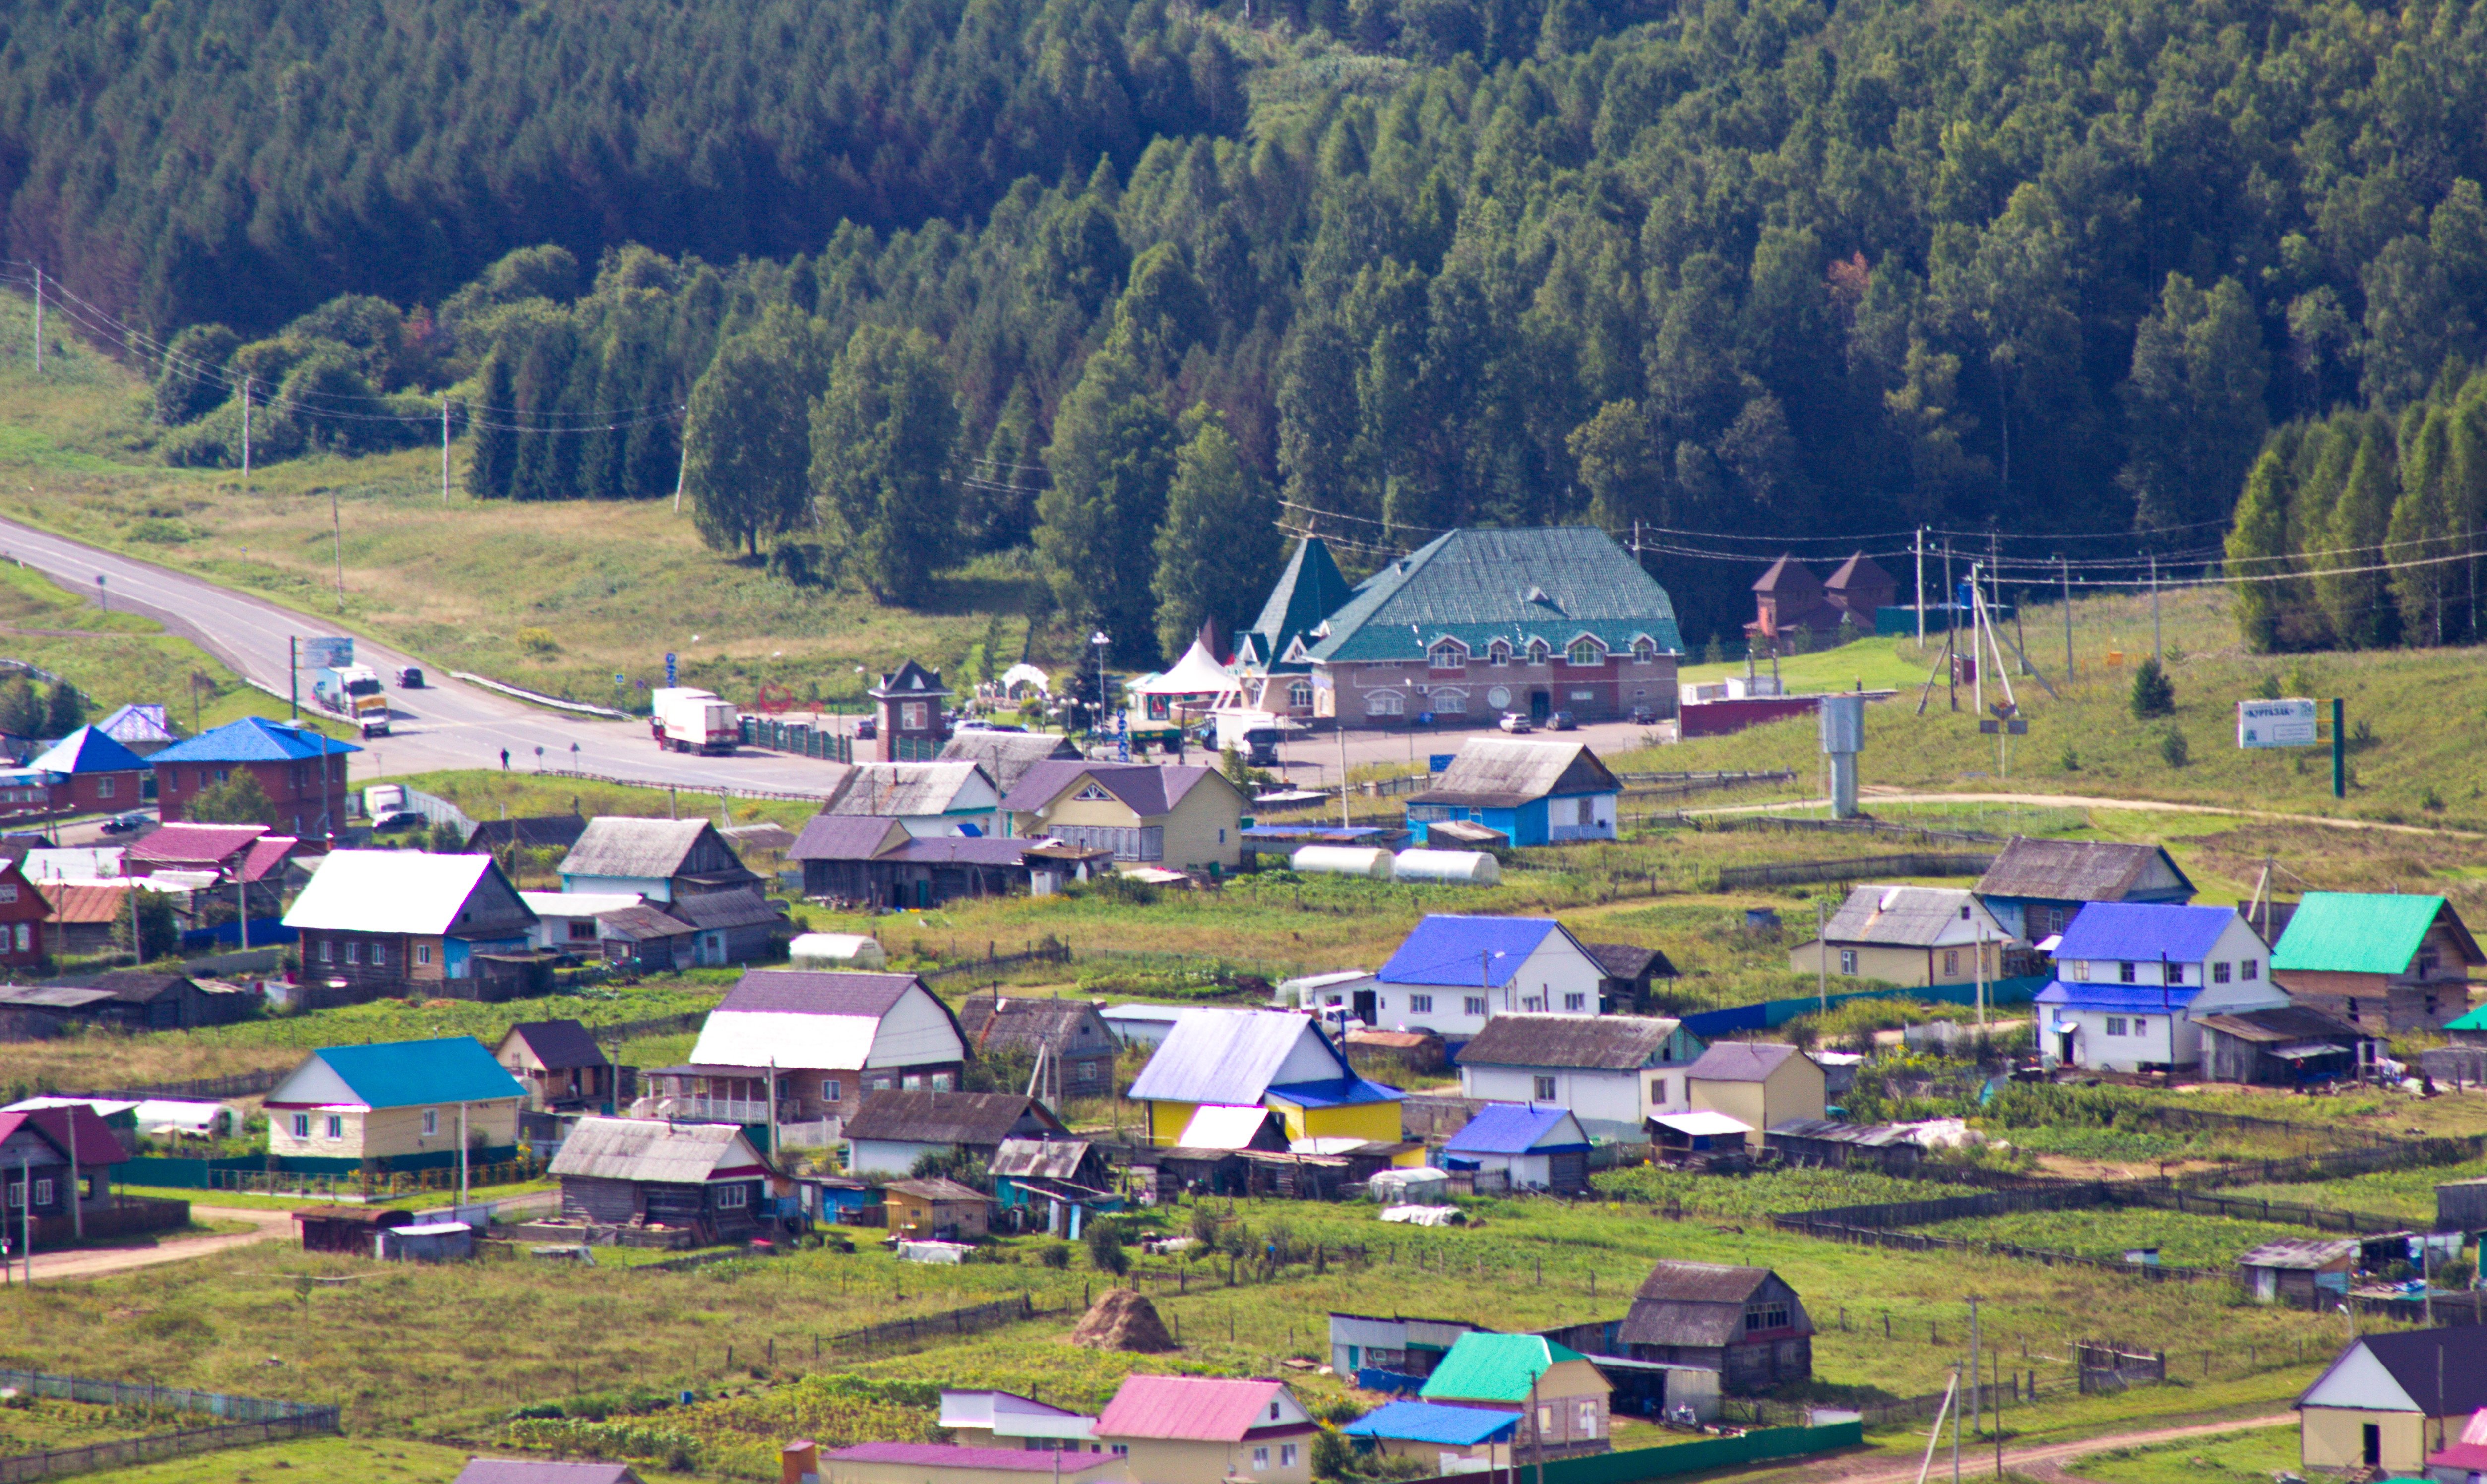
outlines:
[[[2365,1032],[2440,1032],[2470,1009],[2470,967],[2487,964],[2442,897],[2305,892],[2271,947],[2271,977]]]

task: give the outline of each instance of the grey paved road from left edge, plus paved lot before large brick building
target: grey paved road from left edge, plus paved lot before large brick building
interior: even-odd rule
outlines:
[[[104,552],[70,537],[57,537],[15,520],[0,520],[0,557],[52,574],[75,592],[95,594],[104,577],[104,599],[114,609],[134,609],[164,621],[196,641],[236,674],[288,691],[288,639],[333,634],[336,624],[281,604],[216,587],[204,577],[172,572],[137,557]],[[428,773],[433,768],[492,768],[510,748],[510,766],[542,766],[604,773],[684,788],[771,788],[786,793],[826,793],[836,786],[836,763],[783,758],[776,753],[736,753],[699,758],[657,751],[644,721],[604,721],[567,716],[468,686],[440,674],[430,661],[390,644],[356,639],[356,659],[390,674],[420,664],[425,689],[390,691],[390,736],[373,738],[351,763],[356,781],[390,773]],[[893,664],[900,656],[888,656]],[[308,684],[308,679],[306,679]],[[1423,761],[1428,753],[1452,753],[1462,736],[1487,728],[1425,728],[1418,733],[1348,733],[1348,766]],[[1602,753],[1639,746],[1646,728],[1629,723],[1587,726],[1577,736]],[[572,751],[577,748],[577,751]],[[1281,748],[1286,776],[1321,788],[1338,781],[1338,736],[1298,736]],[[1199,761],[1199,753],[1194,753]]]

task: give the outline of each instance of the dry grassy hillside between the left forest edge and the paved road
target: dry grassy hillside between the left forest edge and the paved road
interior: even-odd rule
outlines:
[[[27,341],[27,313],[0,296],[0,343]],[[853,698],[858,666],[955,669],[987,639],[1010,664],[1037,594],[1000,557],[945,574],[920,611],[796,589],[704,549],[669,502],[443,502],[438,447],[303,457],[254,470],[244,492],[231,470],[154,465],[147,408],[147,388],[90,348],[47,355],[40,383],[22,355],[0,358],[0,490],[25,492],[10,515],[311,614],[338,611],[341,552],[348,629],[587,701],[644,698],[667,651],[686,684],[726,696],[776,681]],[[463,470],[465,445],[453,455]]]

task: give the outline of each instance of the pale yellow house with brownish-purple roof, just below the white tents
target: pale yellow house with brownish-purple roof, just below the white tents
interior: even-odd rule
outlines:
[[[1234,870],[1244,860],[1244,790],[1184,763],[1032,763],[1002,810],[1022,840],[1112,850],[1117,865]]]

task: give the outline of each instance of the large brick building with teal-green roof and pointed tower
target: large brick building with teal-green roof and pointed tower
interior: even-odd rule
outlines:
[[[1602,529],[1445,532],[1303,626],[1328,602],[1328,552],[1308,539],[1244,646],[1266,711],[1345,726],[1674,716],[1674,602]]]

